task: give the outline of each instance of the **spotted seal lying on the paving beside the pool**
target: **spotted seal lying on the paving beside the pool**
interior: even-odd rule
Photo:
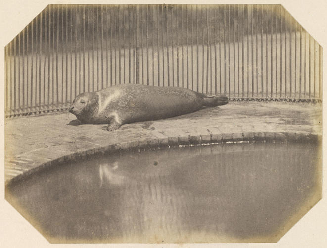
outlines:
[[[165,119],[227,103],[226,96],[207,96],[185,88],[121,84],[79,94],[69,112],[83,124],[108,124],[107,130],[113,131],[128,123]]]

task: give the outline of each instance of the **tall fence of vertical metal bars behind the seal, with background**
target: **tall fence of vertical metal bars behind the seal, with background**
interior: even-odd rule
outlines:
[[[48,5],[5,47],[6,117],[122,83],[321,101],[322,48],[281,5]]]

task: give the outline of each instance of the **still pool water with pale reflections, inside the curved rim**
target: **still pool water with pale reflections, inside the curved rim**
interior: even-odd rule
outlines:
[[[121,152],[6,188],[50,242],[271,242],[321,197],[315,144]]]

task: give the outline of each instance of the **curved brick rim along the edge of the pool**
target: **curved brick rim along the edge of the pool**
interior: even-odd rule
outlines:
[[[73,152],[56,159],[47,161],[34,168],[5,181],[5,186],[18,183],[25,178],[43,170],[50,169],[52,166],[63,162],[69,162],[78,159],[86,159],[94,155],[111,154],[120,151],[135,150],[152,150],[170,147],[183,146],[201,146],[210,144],[224,143],[260,143],[260,142],[277,142],[277,143],[296,143],[311,142],[321,144],[322,136],[312,133],[296,133],[296,132],[241,132],[241,133],[223,133],[223,134],[204,134],[204,135],[188,135],[175,136],[167,138],[145,138],[128,142],[104,145],[93,149]],[[321,149],[321,148],[320,148]]]

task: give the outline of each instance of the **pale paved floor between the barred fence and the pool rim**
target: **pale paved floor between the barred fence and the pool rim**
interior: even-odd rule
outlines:
[[[5,120],[5,180],[53,159],[116,143],[243,132],[322,132],[321,105],[230,102],[165,120],[123,125],[76,125],[73,114],[59,113]]]

